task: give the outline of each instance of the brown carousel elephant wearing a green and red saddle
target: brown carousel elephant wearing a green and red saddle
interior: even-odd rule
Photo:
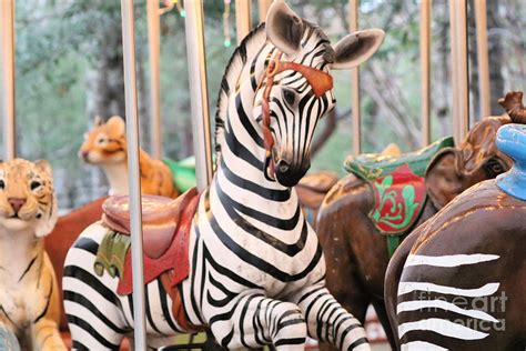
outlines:
[[[497,129],[510,122],[508,116],[488,117],[457,147],[444,139],[399,158],[351,159],[352,173],[327,193],[316,224],[327,288],[362,322],[372,303],[392,344],[383,299],[390,255],[456,195],[510,167],[495,146]]]

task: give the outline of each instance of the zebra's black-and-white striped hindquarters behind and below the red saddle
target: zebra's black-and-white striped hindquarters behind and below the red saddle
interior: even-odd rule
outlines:
[[[131,295],[117,294],[118,280],[93,272],[97,249],[107,229],[95,223],[70,249],[63,277],[64,310],[78,350],[115,349],[133,331]],[[85,235],[84,235],[85,234]],[[172,314],[172,301],[158,279],[146,287],[146,329],[159,339],[183,332]],[[154,343],[160,347],[163,342]]]

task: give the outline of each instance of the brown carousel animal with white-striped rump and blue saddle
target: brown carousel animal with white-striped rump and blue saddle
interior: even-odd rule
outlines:
[[[402,350],[526,349],[526,110],[497,134],[515,160],[497,180],[458,195],[403,242],[390,262],[385,301]],[[515,101],[515,102],[513,102]]]

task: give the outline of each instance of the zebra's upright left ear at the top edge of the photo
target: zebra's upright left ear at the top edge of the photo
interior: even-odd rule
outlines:
[[[274,1],[266,16],[266,38],[289,57],[301,49],[303,21],[283,1]]]

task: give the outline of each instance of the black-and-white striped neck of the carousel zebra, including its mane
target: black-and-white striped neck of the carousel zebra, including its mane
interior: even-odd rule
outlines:
[[[265,149],[257,122],[261,106],[254,107],[273,50],[264,27],[260,27],[236,49],[229,63],[218,106],[222,127],[216,132],[216,142],[221,154],[210,197],[212,207],[219,200],[225,209],[235,208],[236,213],[246,214],[250,208],[265,211],[276,221],[297,221],[294,190],[265,177]],[[252,215],[251,212],[249,217]]]

